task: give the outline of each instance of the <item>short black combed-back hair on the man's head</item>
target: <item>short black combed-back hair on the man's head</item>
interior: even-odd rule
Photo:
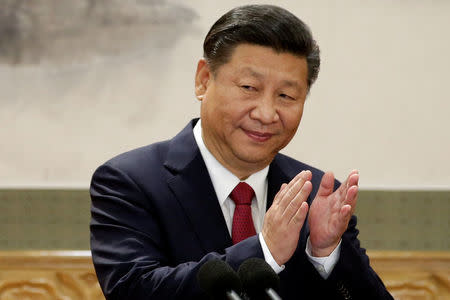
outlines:
[[[277,52],[305,57],[308,89],[317,79],[319,46],[309,27],[286,9],[274,5],[245,5],[220,17],[203,43],[203,55],[212,72],[227,63],[240,44],[266,46]]]

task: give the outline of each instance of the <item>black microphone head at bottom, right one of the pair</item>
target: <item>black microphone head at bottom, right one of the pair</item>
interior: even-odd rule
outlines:
[[[238,275],[250,299],[281,300],[275,291],[280,286],[280,278],[265,260],[247,259],[239,267]]]

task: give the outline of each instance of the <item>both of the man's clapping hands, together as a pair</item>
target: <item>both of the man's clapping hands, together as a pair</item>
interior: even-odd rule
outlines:
[[[311,207],[306,200],[312,190],[312,174],[302,171],[283,184],[267,211],[262,234],[275,261],[286,263],[297,248],[300,230],[309,209],[310,243],[313,256],[328,256],[339,244],[355,210],[358,194],[358,171],[334,189],[334,175],[323,175]]]

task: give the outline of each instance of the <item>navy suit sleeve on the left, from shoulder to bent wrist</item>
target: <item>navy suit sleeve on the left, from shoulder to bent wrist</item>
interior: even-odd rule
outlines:
[[[173,264],[152,199],[125,172],[105,164],[91,182],[91,251],[106,299],[201,299],[196,276],[202,264],[221,259],[236,269],[263,253],[257,236]],[[181,245],[182,247],[183,245]]]

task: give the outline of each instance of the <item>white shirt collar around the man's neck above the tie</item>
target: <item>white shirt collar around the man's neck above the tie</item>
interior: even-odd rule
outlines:
[[[231,173],[227,168],[222,166],[222,164],[212,155],[212,153],[206,148],[202,137],[202,127],[201,120],[198,120],[197,124],[194,126],[194,138],[197,142],[200,153],[205,161],[206,168],[208,169],[209,176],[216,191],[217,199],[220,205],[223,205],[225,200],[230,195],[231,191],[240,182],[239,178]],[[243,182],[250,185],[255,191],[256,201],[258,207],[260,203],[264,201],[263,197],[265,195],[265,188],[267,186],[267,174],[269,172],[269,166],[264,169],[253,173]]]

